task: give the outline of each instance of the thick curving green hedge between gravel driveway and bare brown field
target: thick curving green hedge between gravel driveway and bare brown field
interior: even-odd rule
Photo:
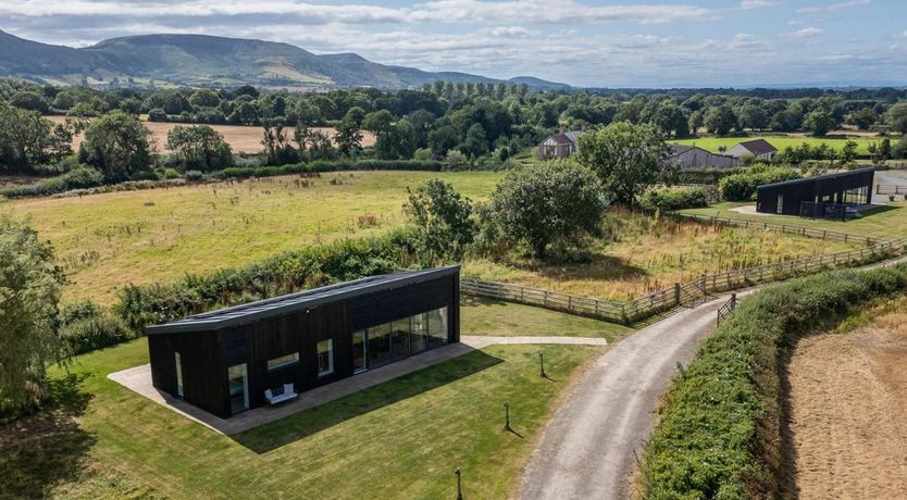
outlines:
[[[907,265],[835,271],[744,300],[674,380],[646,446],[646,499],[781,496],[780,371],[803,334],[907,287]]]

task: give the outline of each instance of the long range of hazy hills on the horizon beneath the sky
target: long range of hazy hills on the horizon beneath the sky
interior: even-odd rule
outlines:
[[[149,78],[176,85],[231,87],[420,87],[437,79],[500,80],[465,73],[389,66],[355,53],[314,54],[289,43],[207,35],[112,38],[82,49],[51,46],[0,32],[0,76],[79,84]],[[563,84],[519,77],[534,88]]]

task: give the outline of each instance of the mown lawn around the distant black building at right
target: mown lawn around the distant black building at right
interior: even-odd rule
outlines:
[[[723,202],[716,203],[706,209],[682,210],[681,212],[705,216],[720,216],[758,222],[771,222],[775,224],[791,224],[795,226],[838,230],[853,235],[875,236],[880,238],[907,237],[907,202],[905,201],[889,203],[884,207],[875,209],[872,212],[866,213],[861,218],[855,218],[847,222],[803,218],[793,215],[743,214],[732,210],[747,204],[753,204],[753,202]],[[828,242],[823,241],[821,245],[825,246]]]

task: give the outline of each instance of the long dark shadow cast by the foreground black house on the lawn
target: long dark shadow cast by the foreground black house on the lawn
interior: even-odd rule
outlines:
[[[347,420],[419,396],[502,362],[504,360],[483,351],[471,351],[445,363],[362,389],[231,437],[256,453],[265,453]]]

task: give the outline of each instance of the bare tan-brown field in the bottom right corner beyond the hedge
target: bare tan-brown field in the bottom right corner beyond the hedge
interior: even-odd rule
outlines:
[[[798,342],[792,497],[907,498],[907,298],[891,305],[866,326]]]

